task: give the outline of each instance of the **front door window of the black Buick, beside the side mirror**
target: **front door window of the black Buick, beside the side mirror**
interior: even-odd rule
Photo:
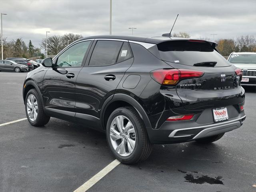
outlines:
[[[68,48],[58,57],[56,67],[81,66],[90,42],[91,41],[80,42]]]

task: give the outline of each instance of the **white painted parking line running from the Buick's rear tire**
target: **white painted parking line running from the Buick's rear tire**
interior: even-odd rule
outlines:
[[[116,166],[118,166],[120,162],[118,160],[112,161],[108,164],[104,169],[86,181],[82,186],[74,190],[74,192],[86,192],[89,188],[91,188],[94,184],[96,184],[99,180],[101,180],[106,174],[108,174],[111,170],[113,170]]]

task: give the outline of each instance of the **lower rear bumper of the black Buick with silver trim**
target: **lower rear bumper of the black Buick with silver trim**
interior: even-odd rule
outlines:
[[[150,138],[150,142],[154,144],[188,142],[237,129],[242,126],[245,118],[246,115],[244,112],[241,112],[239,116],[228,121],[199,126],[195,126],[196,122],[193,119],[180,122],[166,121],[159,129],[148,130],[148,136]]]

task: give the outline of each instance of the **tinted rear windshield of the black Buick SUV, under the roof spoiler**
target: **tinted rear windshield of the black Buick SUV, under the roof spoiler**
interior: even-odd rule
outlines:
[[[164,61],[190,66],[202,62],[217,62],[215,67],[230,66],[209,42],[167,41],[157,47]]]

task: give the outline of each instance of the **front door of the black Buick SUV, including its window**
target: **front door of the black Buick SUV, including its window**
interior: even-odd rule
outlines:
[[[75,82],[83,68],[91,41],[77,42],[54,59],[43,81],[46,111],[61,119],[75,116]]]

